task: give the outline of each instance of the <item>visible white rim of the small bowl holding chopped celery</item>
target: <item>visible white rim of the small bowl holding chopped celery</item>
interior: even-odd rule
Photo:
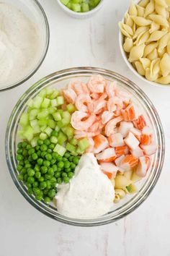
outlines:
[[[63,9],[63,11],[66,12],[69,16],[76,19],[86,19],[86,18],[92,17],[94,14],[96,14],[99,11],[99,9],[102,8],[104,1],[105,0],[101,0],[97,5],[97,7],[95,7],[89,12],[73,12],[71,9],[68,9],[68,7],[62,4],[60,0],[57,0],[59,7],[61,7],[61,9]]]

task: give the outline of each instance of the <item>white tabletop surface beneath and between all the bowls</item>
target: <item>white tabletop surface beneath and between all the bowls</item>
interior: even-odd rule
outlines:
[[[170,88],[138,80],[120,56],[117,22],[130,1],[106,0],[89,20],[68,17],[55,0],[40,2],[50,23],[48,55],[24,85],[0,93],[0,256],[169,256]],[[66,226],[35,210],[14,186],[4,155],[6,123],[22,93],[50,72],[83,65],[112,69],[136,82],[156,106],[166,136],[164,169],[146,202],[126,218],[95,228]]]

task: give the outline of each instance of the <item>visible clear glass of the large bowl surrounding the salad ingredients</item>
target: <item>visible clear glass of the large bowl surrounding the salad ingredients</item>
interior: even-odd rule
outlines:
[[[73,219],[62,216],[58,213],[57,209],[51,205],[46,205],[43,202],[35,200],[33,196],[27,194],[27,188],[24,187],[22,182],[19,182],[17,179],[17,160],[16,160],[16,150],[17,150],[17,129],[19,124],[19,118],[22,115],[23,111],[26,108],[26,103],[28,99],[35,97],[37,93],[48,86],[57,87],[58,89],[63,88],[66,84],[75,78],[81,78],[81,80],[88,80],[89,77],[93,74],[102,74],[105,79],[112,81],[117,80],[117,84],[123,90],[128,90],[129,93],[133,95],[135,103],[143,108],[143,111],[146,112],[148,120],[153,127],[156,137],[156,143],[158,145],[158,150],[153,156],[153,163],[151,168],[148,171],[147,176],[138,183],[139,192],[135,195],[127,195],[124,200],[121,200],[120,203],[115,204],[112,211],[107,213],[100,218],[82,220],[82,219]],[[48,77],[42,78],[39,82],[32,85],[32,87],[27,90],[24,95],[19,99],[17,105],[12,111],[10,116],[9,123],[6,129],[6,140],[5,140],[5,149],[6,149],[6,161],[9,168],[9,172],[12,176],[14,183],[16,184],[19,191],[26,198],[28,202],[37,210],[40,210],[41,213],[53,218],[57,221],[63,223],[68,223],[71,225],[77,226],[98,226],[125,217],[128,213],[131,213],[135,208],[146,200],[148,195],[151,193],[153,187],[155,187],[158,177],[161,174],[161,169],[164,163],[164,131],[161,126],[161,121],[158,117],[156,109],[154,108],[151,101],[148,99],[145,93],[143,93],[137,85],[128,80],[122,75],[115,72],[111,72],[106,69],[98,69],[92,67],[79,67],[72,69],[65,69],[60,72],[55,72],[48,75]]]

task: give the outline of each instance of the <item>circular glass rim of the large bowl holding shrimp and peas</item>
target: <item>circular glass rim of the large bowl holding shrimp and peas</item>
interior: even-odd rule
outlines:
[[[117,208],[116,210],[120,210],[120,213],[117,213],[116,216],[110,216],[112,213],[107,213],[105,216],[101,216],[101,218],[94,218],[91,220],[84,220],[84,219],[73,219],[73,218],[67,218],[65,216],[62,216],[58,213],[53,214],[52,210],[46,210],[45,204],[39,204],[39,202],[37,202],[36,200],[33,200],[26,192],[26,190],[23,188],[23,186],[21,186],[21,184],[19,183],[18,179],[16,178],[16,176],[14,175],[14,166],[12,166],[12,161],[11,161],[11,157],[10,157],[10,150],[11,147],[9,145],[10,142],[10,135],[11,135],[11,129],[12,129],[12,124],[13,124],[13,119],[15,116],[19,115],[20,111],[23,110],[24,106],[25,106],[25,101],[28,100],[30,93],[35,93],[37,88],[43,88],[45,85],[48,85],[49,82],[52,81],[52,79],[54,78],[55,80],[58,80],[59,78],[63,78],[63,77],[68,77],[72,74],[105,74],[106,76],[110,76],[112,77],[112,79],[116,78],[118,80],[120,80],[121,82],[123,82],[125,85],[129,86],[130,90],[133,90],[133,92],[138,92],[139,95],[143,96],[143,102],[146,104],[147,107],[149,107],[149,111],[152,110],[154,116],[152,116],[152,118],[157,121],[157,126],[156,126],[156,131],[159,132],[159,148],[161,148],[160,153],[161,153],[161,158],[158,158],[158,168],[156,171],[153,172],[154,176],[151,177],[151,184],[150,186],[146,186],[145,191],[143,192],[143,194],[140,195],[139,198],[134,199],[133,204],[130,205],[130,201],[129,200],[127,203],[125,203],[125,205],[123,205],[120,208]],[[45,85],[43,85],[43,83],[45,83]],[[138,97],[139,97],[138,95]],[[21,109],[19,109],[19,106],[21,106]],[[120,218],[123,218],[125,216],[127,216],[129,213],[132,213],[133,210],[135,210],[136,208],[138,208],[138,206],[144,202],[144,200],[146,200],[146,198],[148,197],[148,195],[150,195],[151,191],[153,190],[153,187],[155,187],[156,183],[158,182],[158,178],[161,175],[161,171],[162,171],[162,167],[164,164],[164,155],[165,155],[165,140],[164,140],[164,129],[162,127],[161,124],[161,120],[158,116],[158,113],[156,111],[156,109],[153,106],[153,103],[151,103],[151,101],[149,100],[148,96],[143,92],[143,90],[141,90],[140,88],[138,88],[138,85],[135,85],[134,82],[128,80],[128,78],[123,77],[121,74],[117,74],[116,72],[112,72],[108,69],[102,69],[102,68],[97,68],[97,67],[73,67],[73,68],[69,68],[69,69],[63,69],[61,71],[58,72],[53,72],[52,74],[49,74],[48,76],[42,78],[42,80],[39,80],[38,82],[36,82],[34,85],[32,85],[22,96],[21,98],[19,98],[19,101],[17,102],[17,104],[14,106],[14,109],[12,111],[11,116],[9,117],[9,121],[7,124],[7,128],[6,128],[6,136],[5,136],[5,153],[6,153],[6,163],[9,169],[9,173],[12,176],[12,179],[14,181],[14,184],[16,185],[17,189],[19,189],[19,192],[21,192],[21,194],[24,196],[24,198],[30,202],[30,204],[32,206],[34,206],[35,208],[37,208],[37,210],[39,210],[41,213],[44,213],[46,216],[53,218],[57,221],[60,221],[62,223],[67,223],[69,225],[73,225],[73,226],[101,226],[107,223],[112,223],[114,221],[119,220]],[[145,187],[145,184],[143,185],[143,187]],[[138,195],[138,194],[137,194]],[[45,207],[43,207],[43,205]],[[125,208],[126,205],[129,205],[127,208]],[[47,208],[47,207],[46,207]],[[122,208],[122,210],[121,210]],[[125,209],[124,209],[125,208]],[[106,217],[104,219],[102,219],[103,217]]]

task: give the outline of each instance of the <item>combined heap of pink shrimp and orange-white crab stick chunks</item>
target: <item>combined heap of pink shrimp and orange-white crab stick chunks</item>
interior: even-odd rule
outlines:
[[[117,171],[132,169],[138,176],[146,176],[150,155],[157,147],[153,130],[143,114],[138,114],[129,93],[117,88],[116,81],[95,75],[86,84],[71,81],[63,95],[77,109],[71,116],[76,139],[88,138],[87,152],[95,154],[109,179]]]

